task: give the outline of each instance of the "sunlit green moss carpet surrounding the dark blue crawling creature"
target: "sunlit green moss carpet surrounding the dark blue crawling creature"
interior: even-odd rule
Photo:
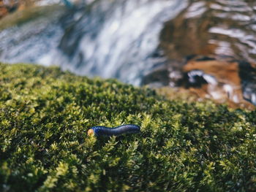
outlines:
[[[0,64],[0,191],[255,191],[256,111]],[[91,126],[140,134],[87,137]]]

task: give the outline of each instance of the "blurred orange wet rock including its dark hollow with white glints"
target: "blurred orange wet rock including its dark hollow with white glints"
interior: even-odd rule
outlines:
[[[245,64],[249,69],[245,69]],[[246,106],[251,105],[247,101],[255,104],[255,71],[249,63],[227,59],[192,60],[187,62],[183,70],[182,81],[200,96]]]

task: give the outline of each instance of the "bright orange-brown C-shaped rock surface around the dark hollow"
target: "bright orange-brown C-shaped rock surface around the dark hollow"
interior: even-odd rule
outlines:
[[[228,102],[231,107],[245,107],[254,109],[255,106],[244,100],[241,78],[239,77],[239,64],[236,61],[188,61],[184,65],[185,73],[193,70],[203,71],[217,81],[207,83],[200,88],[189,87],[189,90],[202,98],[213,98],[217,102]]]

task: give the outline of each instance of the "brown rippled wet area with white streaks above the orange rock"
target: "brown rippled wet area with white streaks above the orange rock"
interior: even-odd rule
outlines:
[[[190,1],[165,23],[159,46],[168,58],[226,55],[256,61],[255,1]]]

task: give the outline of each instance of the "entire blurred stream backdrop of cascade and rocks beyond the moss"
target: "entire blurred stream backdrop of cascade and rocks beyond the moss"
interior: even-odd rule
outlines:
[[[1,0],[0,61],[254,107],[256,1]]]

